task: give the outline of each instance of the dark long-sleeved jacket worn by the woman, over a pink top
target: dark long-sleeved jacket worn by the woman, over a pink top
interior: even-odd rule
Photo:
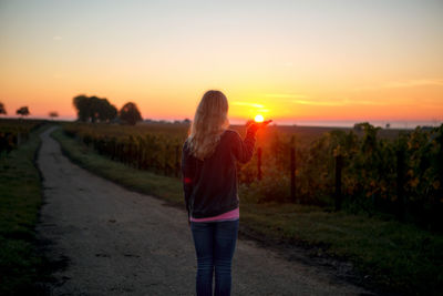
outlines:
[[[236,131],[226,130],[214,153],[204,161],[194,157],[185,142],[182,173],[189,215],[212,217],[238,207],[236,162],[246,163],[253,157],[255,142],[254,132],[241,140]]]

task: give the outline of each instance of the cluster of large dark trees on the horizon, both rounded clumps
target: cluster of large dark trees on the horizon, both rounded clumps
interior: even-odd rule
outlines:
[[[78,112],[78,120],[81,122],[121,122],[135,125],[142,121],[138,108],[133,102],[124,104],[117,111],[107,99],[81,94],[73,99],[73,104]]]

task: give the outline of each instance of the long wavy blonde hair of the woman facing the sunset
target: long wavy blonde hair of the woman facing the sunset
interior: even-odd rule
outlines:
[[[199,160],[213,154],[229,126],[228,100],[220,91],[207,91],[195,112],[187,139],[190,154]]]

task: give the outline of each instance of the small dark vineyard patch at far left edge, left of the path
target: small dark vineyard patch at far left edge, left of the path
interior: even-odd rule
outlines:
[[[27,141],[30,132],[42,123],[41,120],[0,120],[0,157]]]

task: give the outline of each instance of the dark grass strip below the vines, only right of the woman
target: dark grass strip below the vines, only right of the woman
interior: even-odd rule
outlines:
[[[443,237],[414,225],[275,203],[243,206],[241,220],[268,239],[353,263],[371,286],[412,295],[442,290]]]

